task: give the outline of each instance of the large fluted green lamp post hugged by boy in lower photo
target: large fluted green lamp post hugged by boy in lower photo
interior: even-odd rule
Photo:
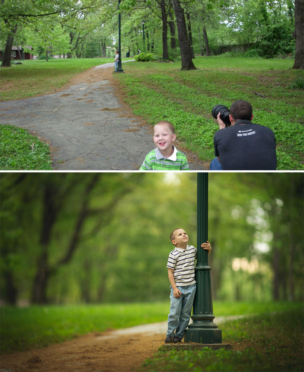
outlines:
[[[213,323],[211,294],[211,267],[208,265],[208,251],[201,244],[208,240],[208,173],[197,174],[197,262],[195,267],[196,294],[192,320],[186,329],[184,342],[221,344],[222,331]]]

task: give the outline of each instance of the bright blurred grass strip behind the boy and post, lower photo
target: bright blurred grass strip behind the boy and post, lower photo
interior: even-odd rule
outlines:
[[[88,332],[166,321],[170,302],[1,308],[1,352],[44,347]],[[215,302],[214,315],[264,313],[299,308],[287,302]],[[215,319],[216,321],[216,319]]]

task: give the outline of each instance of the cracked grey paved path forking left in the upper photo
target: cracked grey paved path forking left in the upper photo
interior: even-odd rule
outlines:
[[[46,141],[54,170],[139,169],[154,148],[152,128],[122,101],[113,67],[90,68],[51,94],[2,102],[1,124]],[[204,169],[194,154],[186,155],[192,170]]]

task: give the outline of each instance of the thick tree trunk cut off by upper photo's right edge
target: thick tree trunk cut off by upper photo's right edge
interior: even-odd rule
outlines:
[[[304,1],[295,0],[295,60],[292,68],[304,70]]]

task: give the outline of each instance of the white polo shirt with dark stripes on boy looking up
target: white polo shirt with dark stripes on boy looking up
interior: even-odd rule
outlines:
[[[196,259],[196,248],[186,246],[186,249],[174,248],[169,254],[167,267],[174,270],[176,286],[185,286],[196,283],[194,272],[194,261]]]

